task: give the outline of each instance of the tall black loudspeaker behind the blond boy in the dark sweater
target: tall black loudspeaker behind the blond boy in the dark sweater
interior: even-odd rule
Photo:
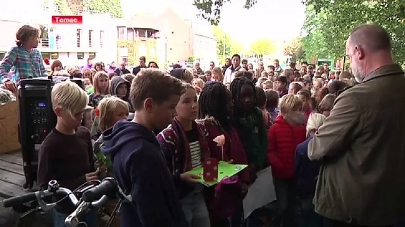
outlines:
[[[20,81],[18,132],[25,175],[24,188],[32,188],[36,181],[39,148],[48,133],[56,126],[57,118],[51,102],[52,88],[55,84],[66,80],[84,88],[82,79],[72,77],[40,77]]]

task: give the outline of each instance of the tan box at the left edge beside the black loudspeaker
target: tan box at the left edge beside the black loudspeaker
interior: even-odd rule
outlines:
[[[0,105],[0,154],[21,149],[18,141],[18,101]]]

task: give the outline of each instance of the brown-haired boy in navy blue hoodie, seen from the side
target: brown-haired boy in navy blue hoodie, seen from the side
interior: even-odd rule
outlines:
[[[167,127],[175,114],[182,82],[147,69],[131,85],[132,121],[119,121],[103,133],[101,151],[113,162],[116,180],[132,201],[120,210],[121,227],[186,227],[182,207],[154,129]],[[175,179],[176,180],[176,179]]]

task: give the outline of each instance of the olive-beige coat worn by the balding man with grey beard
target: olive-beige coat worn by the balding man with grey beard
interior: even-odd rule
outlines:
[[[398,65],[344,91],[308,145],[322,162],[315,211],[356,225],[405,220],[405,76]]]

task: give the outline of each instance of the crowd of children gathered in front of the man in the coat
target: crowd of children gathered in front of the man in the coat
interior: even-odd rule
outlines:
[[[35,36],[32,29],[23,29],[16,48],[35,48]],[[15,65],[25,75],[27,69],[19,64],[9,54],[0,67],[11,91],[15,85],[5,72]],[[258,210],[244,220],[242,200],[256,174],[270,166],[278,205],[271,226],[295,226],[298,202],[299,226],[322,226],[311,202],[320,165],[308,159],[308,142],[339,92],[353,85],[353,76],[330,71],[327,64],[314,72],[305,62],[299,69],[292,63],[285,70],[278,61],[267,70],[259,62],[254,71],[238,54],[227,64],[205,73],[174,69],[170,75],[158,69],[108,74],[101,63],[82,71],[69,69],[68,75],[84,79],[86,91],[71,82],[54,86],[57,125],[39,151],[38,185],[46,187],[56,179],[74,190],[113,176],[133,199],[122,204],[114,222],[125,227],[261,227]],[[59,75],[61,68],[55,61],[52,75]],[[41,67],[33,70],[42,74]],[[88,105],[94,108],[94,133],[80,126]],[[224,138],[221,146],[218,136]],[[198,183],[200,176],[187,172],[209,157],[248,168],[207,188]],[[107,215],[116,202],[105,205]],[[55,209],[54,226],[64,226],[72,211],[64,199]],[[92,210],[84,220],[95,227],[96,217]]]

